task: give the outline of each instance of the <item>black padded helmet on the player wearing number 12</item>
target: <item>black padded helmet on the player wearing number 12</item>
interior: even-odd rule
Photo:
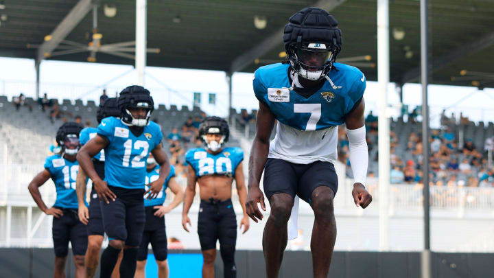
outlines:
[[[154,102],[148,89],[143,86],[132,85],[120,92],[118,107],[124,124],[142,127],[149,124],[151,113],[154,110]],[[146,108],[148,113],[145,119],[134,119],[128,110],[129,108]]]

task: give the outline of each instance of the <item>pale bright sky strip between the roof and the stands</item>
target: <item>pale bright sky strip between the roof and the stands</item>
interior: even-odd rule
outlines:
[[[365,69],[362,69],[365,73]],[[223,71],[202,71],[146,67],[145,86],[150,89],[158,104],[192,106],[193,92],[202,95],[202,109],[209,114],[225,116],[228,105],[228,86]],[[21,91],[34,97],[34,60],[0,57],[0,94],[18,95]],[[46,60],[41,64],[40,80],[42,89],[49,97],[58,99],[98,100],[102,88],[114,95],[125,86],[133,84],[137,75],[132,66],[108,65],[89,62],[60,62]],[[233,76],[233,107],[251,110],[258,106],[252,92],[252,73],[235,73]],[[399,104],[394,84],[390,84],[388,102]],[[208,103],[209,93],[216,94],[216,104]],[[494,89],[478,91],[474,87],[429,86],[432,125],[438,119],[442,108],[451,112],[460,111],[474,121],[494,121]],[[364,95],[367,111],[376,111],[377,82],[367,82]],[[420,84],[406,84],[403,87],[403,103],[410,107],[422,102]]]

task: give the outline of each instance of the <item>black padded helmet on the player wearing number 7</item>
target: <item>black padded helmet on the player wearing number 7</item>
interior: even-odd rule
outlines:
[[[298,75],[320,80],[331,70],[341,51],[342,33],[338,21],[325,10],[304,8],[292,15],[285,25],[283,42]]]

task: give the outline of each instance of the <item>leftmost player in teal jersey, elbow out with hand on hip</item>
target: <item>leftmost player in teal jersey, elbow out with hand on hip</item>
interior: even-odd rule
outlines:
[[[80,124],[65,123],[58,128],[56,141],[61,146],[60,154],[47,157],[45,170],[37,174],[27,187],[36,205],[47,215],[53,218],[53,241],[55,250],[54,277],[65,277],[65,262],[69,251],[69,242],[72,245],[72,254],[75,263],[75,277],[83,278],[84,253],[87,247],[86,226],[78,218],[78,198],[75,194],[75,178],[78,174],[78,161],[75,159],[80,148]],[[40,186],[51,178],[56,187],[56,201],[50,208],[47,207],[39,192]],[[87,206],[87,204],[84,204]]]

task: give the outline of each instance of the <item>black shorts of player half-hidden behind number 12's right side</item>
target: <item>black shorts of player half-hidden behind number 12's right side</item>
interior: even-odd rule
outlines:
[[[151,244],[154,257],[158,261],[164,261],[168,257],[168,244],[165,230],[165,216],[154,216],[157,209],[154,206],[145,207],[145,226],[137,260],[143,261],[148,258],[148,246]]]

